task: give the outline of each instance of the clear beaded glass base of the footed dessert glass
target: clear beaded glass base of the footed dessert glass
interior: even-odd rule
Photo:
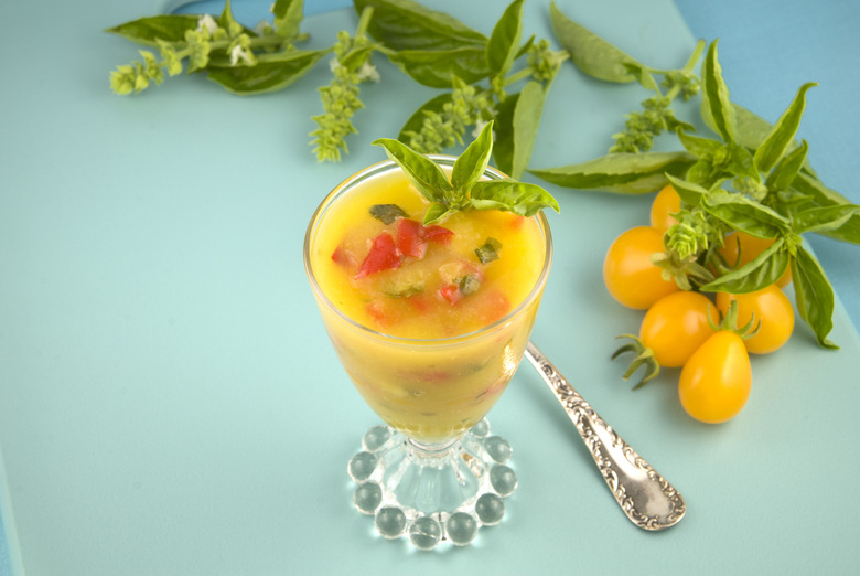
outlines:
[[[381,536],[407,536],[419,550],[470,544],[481,526],[502,521],[503,499],[517,486],[510,445],[490,435],[486,419],[441,446],[374,426],[362,448],[348,466],[355,506],[374,516]]]

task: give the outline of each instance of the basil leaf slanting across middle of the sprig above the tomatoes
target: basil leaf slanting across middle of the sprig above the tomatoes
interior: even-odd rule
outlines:
[[[775,210],[728,190],[712,190],[701,206],[732,228],[756,238],[774,238],[791,230],[788,220]]]

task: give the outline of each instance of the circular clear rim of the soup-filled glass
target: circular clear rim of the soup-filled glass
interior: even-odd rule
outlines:
[[[439,161],[444,167],[453,166],[454,161],[456,160],[456,157],[450,154],[427,154],[427,157]],[[535,214],[534,216],[531,216],[535,220],[537,220],[538,225],[540,226],[540,232],[544,234],[544,247],[545,247],[544,266],[540,269],[540,274],[538,275],[537,280],[535,280],[535,284],[531,287],[531,290],[529,290],[528,295],[526,295],[526,297],[513,310],[510,310],[504,317],[502,317],[501,319],[496,320],[493,323],[479,328],[477,330],[473,330],[471,332],[465,332],[463,334],[458,334],[453,337],[406,338],[396,334],[388,334],[386,332],[380,332],[379,330],[375,330],[370,327],[367,327],[362,322],[358,322],[353,318],[350,318],[340,308],[337,308],[329,299],[329,297],[325,295],[323,289],[320,287],[319,282],[316,281],[316,276],[313,273],[313,267],[311,266],[310,248],[311,248],[311,239],[313,233],[316,230],[316,225],[322,220],[322,215],[324,214],[325,210],[334,203],[335,199],[343,192],[345,188],[351,186],[352,184],[359,182],[364,179],[370,178],[377,173],[387,172],[390,169],[400,169],[400,168],[397,166],[397,163],[394,160],[383,160],[375,164],[370,164],[367,168],[359,170],[358,172],[355,172],[354,174],[352,174],[351,177],[342,181],[340,184],[334,186],[334,189],[329,194],[325,195],[322,202],[320,202],[320,204],[316,206],[313,214],[311,215],[311,220],[308,224],[308,228],[304,232],[304,245],[302,248],[302,258],[304,262],[304,273],[308,277],[308,281],[311,285],[311,289],[316,296],[318,302],[323,302],[325,308],[330,310],[338,319],[341,319],[342,321],[346,322],[353,328],[375,339],[386,340],[388,342],[398,342],[407,345],[418,345],[418,344],[444,345],[449,343],[453,344],[466,340],[477,339],[484,334],[495,332],[496,330],[507,324],[514,317],[516,317],[525,308],[527,308],[535,301],[535,298],[539,296],[539,294],[546,286],[547,278],[549,276],[549,270],[552,265],[552,233],[550,232],[549,228],[549,221],[547,220],[547,216],[546,214],[544,214],[542,210],[537,214]],[[484,170],[484,174],[490,175],[490,178],[493,180],[507,178],[507,175],[505,175],[501,170],[493,168],[491,166],[487,166],[487,168]]]

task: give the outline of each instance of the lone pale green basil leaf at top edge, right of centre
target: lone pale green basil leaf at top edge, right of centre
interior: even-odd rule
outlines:
[[[634,57],[570,20],[556,7],[556,2],[549,4],[549,13],[559,44],[568,51],[570,60],[579,70],[606,82],[628,83],[636,79],[636,75],[625,66],[633,64],[644,67]]]

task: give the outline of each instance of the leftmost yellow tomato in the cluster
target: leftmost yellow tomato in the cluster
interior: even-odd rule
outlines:
[[[654,254],[663,252],[663,233],[651,226],[630,228],[615,238],[603,260],[603,282],[612,297],[627,308],[645,310],[678,291],[652,262]]]

